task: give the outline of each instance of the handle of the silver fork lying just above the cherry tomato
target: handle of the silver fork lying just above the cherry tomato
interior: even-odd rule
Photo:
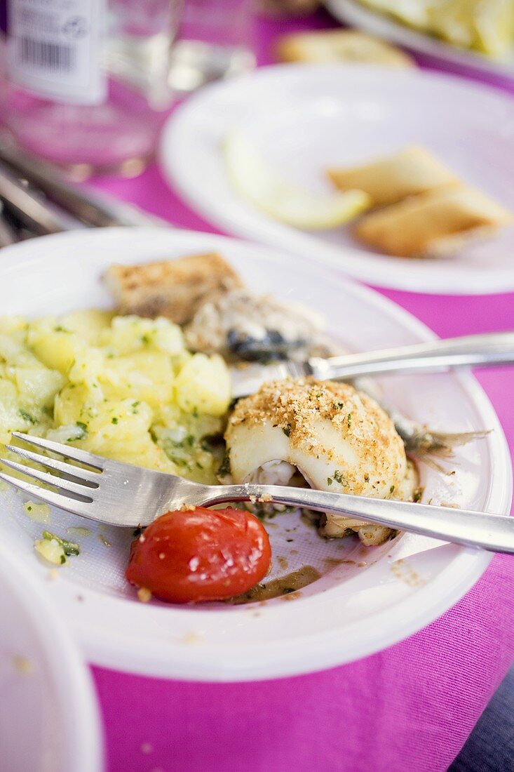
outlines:
[[[514,554],[514,517],[508,515],[456,510],[393,499],[370,499],[323,490],[250,484],[207,486],[205,500],[201,503],[211,506],[225,502],[250,501],[254,497],[261,499],[262,496],[266,502],[355,516],[368,523],[465,544],[466,547],[482,547],[483,550],[491,552]],[[198,500],[195,503],[198,503]]]

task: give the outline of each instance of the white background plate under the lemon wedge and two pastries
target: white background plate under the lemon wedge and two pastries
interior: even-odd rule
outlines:
[[[514,102],[502,93],[418,70],[281,65],[208,86],[169,120],[164,173],[188,203],[226,232],[309,259],[367,283],[434,293],[514,289],[514,227],[448,259],[379,255],[349,228],[306,232],[282,225],[232,188],[221,156],[241,127],[285,178],[323,189],[323,169],[359,164],[405,144],[424,144],[463,180],[512,207]]]

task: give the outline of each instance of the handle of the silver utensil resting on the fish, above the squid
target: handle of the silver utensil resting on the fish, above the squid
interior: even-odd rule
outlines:
[[[378,373],[437,372],[448,367],[489,367],[495,364],[514,364],[514,332],[464,335],[365,354],[309,359],[313,376],[322,380]]]

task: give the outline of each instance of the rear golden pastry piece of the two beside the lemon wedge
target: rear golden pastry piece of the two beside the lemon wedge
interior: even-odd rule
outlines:
[[[375,206],[395,204],[407,195],[416,195],[458,182],[455,175],[428,150],[419,145],[370,164],[350,169],[329,169],[328,176],[341,191],[359,188]]]

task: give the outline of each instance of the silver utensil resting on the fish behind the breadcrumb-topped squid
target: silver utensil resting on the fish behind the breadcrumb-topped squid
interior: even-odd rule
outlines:
[[[463,335],[431,340],[412,346],[398,346],[364,354],[339,357],[311,357],[272,364],[245,364],[231,367],[232,397],[254,394],[266,381],[283,381],[313,375],[322,381],[357,378],[361,375],[393,373],[433,373],[448,367],[491,367],[514,364],[514,332]]]

